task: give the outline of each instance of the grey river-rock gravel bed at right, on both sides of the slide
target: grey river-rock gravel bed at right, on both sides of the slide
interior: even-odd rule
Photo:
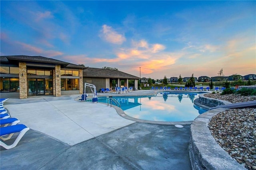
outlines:
[[[256,100],[256,96],[206,94],[231,103]],[[238,163],[256,170],[256,108],[229,109],[212,117],[212,136]]]

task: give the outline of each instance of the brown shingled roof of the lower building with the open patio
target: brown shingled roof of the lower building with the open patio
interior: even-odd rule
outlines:
[[[83,70],[83,77],[97,77],[97,78],[120,78],[120,79],[140,79],[134,75],[130,75],[118,70],[87,68]]]

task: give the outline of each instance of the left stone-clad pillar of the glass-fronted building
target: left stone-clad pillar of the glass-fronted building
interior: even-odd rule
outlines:
[[[26,62],[19,62],[19,81],[20,81],[20,99],[26,99],[28,97]]]

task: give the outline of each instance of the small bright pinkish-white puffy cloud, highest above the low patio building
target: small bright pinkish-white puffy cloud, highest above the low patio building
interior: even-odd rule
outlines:
[[[126,38],[122,34],[118,34],[118,32],[106,24],[102,26],[101,33],[104,40],[110,43],[122,44],[126,41]]]

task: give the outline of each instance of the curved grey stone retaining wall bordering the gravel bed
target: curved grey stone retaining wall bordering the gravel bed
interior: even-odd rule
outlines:
[[[228,101],[199,95],[199,103],[210,107],[231,104]],[[218,108],[199,115],[191,124],[189,156],[192,170],[246,170],[216,142],[208,123],[214,115],[227,109]]]

